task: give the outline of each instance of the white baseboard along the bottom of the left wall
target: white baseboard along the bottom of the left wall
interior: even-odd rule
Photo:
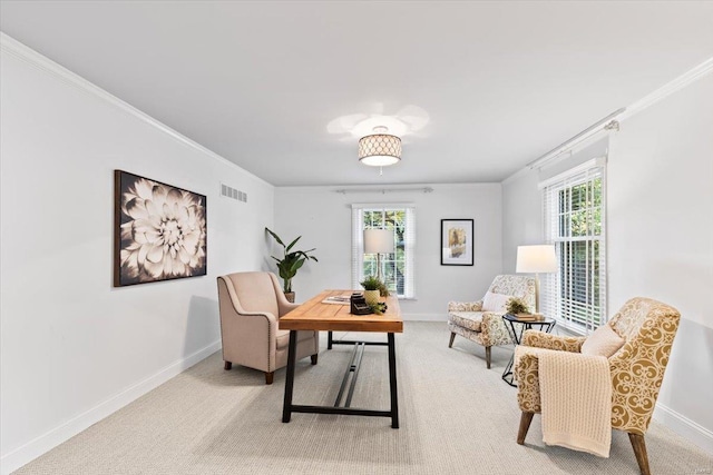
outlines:
[[[99,403],[89,410],[78,415],[77,417],[66,422],[65,424],[55,427],[53,429],[40,435],[39,437],[28,442],[21,447],[2,455],[0,457],[0,473],[2,475],[10,474],[17,471],[21,466],[32,462],[40,455],[57,447],[62,442],[74,437],[92,424],[98,423],[102,418],[117,412],[127,404],[136,400],[146,393],[155,389],[162,384],[166,383],[174,376],[183,373],[196,363],[207,358],[215,352],[221,349],[221,340],[214,342],[204,348],[182,358],[165,368],[160,369],[153,376],[136,383],[135,385],[126,388],[119,394],[108,398],[107,400]]]

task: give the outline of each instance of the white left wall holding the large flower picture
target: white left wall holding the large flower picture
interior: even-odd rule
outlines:
[[[8,473],[219,348],[215,278],[263,266],[273,187],[6,36],[1,61]],[[113,288],[115,169],[207,196],[207,276]]]

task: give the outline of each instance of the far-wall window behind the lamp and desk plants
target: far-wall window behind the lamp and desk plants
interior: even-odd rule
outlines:
[[[377,256],[364,255],[364,229],[393,230],[394,253],[381,255],[381,275],[389,291],[414,298],[413,250],[416,208],[411,205],[352,205],[352,288],[377,275]]]

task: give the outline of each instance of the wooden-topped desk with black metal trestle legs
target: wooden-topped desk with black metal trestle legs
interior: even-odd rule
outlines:
[[[352,315],[349,313],[349,305],[323,304],[326,297],[344,295],[349,296],[352,290],[324,290],[314,298],[305,301],[300,307],[290,311],[280,318],[280,329],[290,330],[290,346],[287,353],[287,376],[285,379],[285,398],[282,410],[282,422],[289,423],[292,413],[313,413],[313,414],[344,414],[358,416],[377,416],[391,417],[391,427],[399,428],[399,404],[397,397],[397,357],[394,345],[394,333],[403,331],[403,320],[401,319],[401,310],[399,309],[399,300],[395,297],[387,297],[388,310],[383,315]],[[389,347],[389,387],[391,393],[390,410],[372,410],[358,409],[349,407],[348,398],[346,407],[340,407],[339,402],[346,382],[346,376],[342,383],[342,389],[334,406],[304,406],[292,404],[292,393],[294,388],[294,366],[297,346],[297,330],[323,330],[330,331],[330,344],[332,344],[332,331],[378,331],[387,334],[387,343],[382,342],[340,342],[342,344],[355,344],[352,363],[355,358],[358,346],[364,345],[384,345]],[[359,357],[361,360],[361,357]],[[350,366],[353,366],[350,364]],[[352,369],[353,370],[353,369]],[[352,385],[355,383],[356,373]],[[353,387],[352,387],[353,389]],[[351,393],[351,390],[350,390]]]

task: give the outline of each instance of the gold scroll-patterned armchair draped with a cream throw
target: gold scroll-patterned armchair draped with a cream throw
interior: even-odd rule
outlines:
[[[656,406],[680,318],[675,308],[637,297],[588,337],[525,331],[515,365],[522,412],[517,443],[525,443],[533,415],[541,412],[544,383],[538,374],[538,348],[605,356],[612,378],[612,428],[628,433],[641,473],[649,474],[644,434]]]

